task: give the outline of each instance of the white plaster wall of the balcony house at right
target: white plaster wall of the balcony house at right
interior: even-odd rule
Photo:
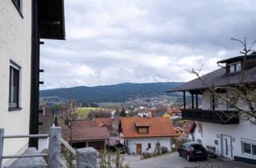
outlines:
[[[202,109],[210,109],[210,97],[209,95],[202,96]],[[227,110],[226,103],[220,98],[218,99],[218,110]],[[241,100],[238,101],[238,106],[244,106]],[[252,126],[250,122],[242,121],[240,119],[239,124],[229,125],[229,124],[215,124],[210,122],[202,122],[202,145],[203,146],[214,146],[216,148],[216,153],[222,154],[222,135],[228,135],[232,139],[233,146],[233,156],[239,156],[244,158],[251,158],[246,154],[242,154],[242,140],[249,140],[250,142],[256,143],[256,126]],[[217,141],[218,144],[215,144]],[[254,158],[255,159],[255,158]]]

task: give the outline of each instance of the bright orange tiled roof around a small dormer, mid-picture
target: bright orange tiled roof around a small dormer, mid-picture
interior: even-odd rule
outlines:
[[[148,123],[149,133],[138,134],[136,123]],[[120,131],[123,134],[123,138],[151,138],[151,137],[173,137],[178,136],[174,130],[174,126],[170,118],[154,117],[154,118],[121,118]]]

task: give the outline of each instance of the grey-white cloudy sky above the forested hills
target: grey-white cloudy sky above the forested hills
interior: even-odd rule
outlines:
[[[255,0],[65,0],[66,41],[45,41],[41,89],[186,82],[256,38]]]

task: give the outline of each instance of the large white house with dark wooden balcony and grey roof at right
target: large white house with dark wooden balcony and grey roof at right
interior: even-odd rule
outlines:
[[[230,86],[234,90],[238,88],[243,75],[243,84],[253,86],[256,83],[256,53],[246,58],[238,56],[218,62],[220,69],[196,78],[190,82],[173,88],[170,92],[183,92],[184,108],[182,118],[202,122],[202,145],[206,146],[219,156],[236,161],[256,163],[256,126],[249,121],[242,120],[242,116],[223,121],[223,114],[235,112],[234,106],[222,98],[210,93],[202,80],[210,86]],[[191,95],[192,108],[186,109],[186,93]],[[218,94],[226,98],[234,98],[229,90],[216,90]],[[198,96],[202,97],[202,109],[198,108]],[[233,96],[233,97],[232,97]],[[195,102],[194,102],[195,98]],[[250,105],[238,99],[239,106],[249,109]],[[251,105],[253,106],[253,105]]]

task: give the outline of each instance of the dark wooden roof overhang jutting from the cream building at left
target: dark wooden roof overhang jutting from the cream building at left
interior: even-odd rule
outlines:
[[[64,0],[38,0],[40,38],[65,40]]]

